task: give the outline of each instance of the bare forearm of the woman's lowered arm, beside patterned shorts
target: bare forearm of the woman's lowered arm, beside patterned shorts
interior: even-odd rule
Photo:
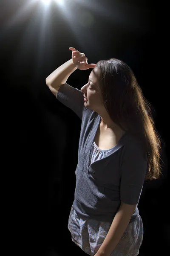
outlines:
[[[125,232],[136,205],[121,204],[109,232],[98,250],[99,255],[110,256]]]

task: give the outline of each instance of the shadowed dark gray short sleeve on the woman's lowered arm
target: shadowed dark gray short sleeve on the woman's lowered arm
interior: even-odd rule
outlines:
[[[147,167],[147,160],[144,159],[142,145],[138,142],[125,145],[122,156],[120,183],[120,199],[123,203],[139,203]]]

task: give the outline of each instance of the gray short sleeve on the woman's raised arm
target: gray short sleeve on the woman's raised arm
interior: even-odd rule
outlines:
[[[79,118],[82,120],[82,113],[85,106],[84,97],[81,90],[78,90],[77,88],[65,83],[59,88],[56,98],[66,107],[74,111],[74,113],[76,113],[77,116],[79,116]]]

